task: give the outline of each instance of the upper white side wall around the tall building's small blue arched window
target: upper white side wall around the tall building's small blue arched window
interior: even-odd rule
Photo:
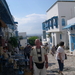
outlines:
[[[59,28],[60,31],[64,26],[61,25],[61,19],[64,18],[67,25],[67,20],[75,16],[75,2],[58,2],[58,11],[59,11]]]

